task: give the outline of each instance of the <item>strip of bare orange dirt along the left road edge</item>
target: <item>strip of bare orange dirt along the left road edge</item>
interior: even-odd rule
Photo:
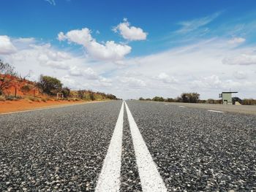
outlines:
[[[44,107],[53,107],[67,104],[82,104],[88,101],[28,101],[25,99],[18,101],[0,101],[0,114],[6,112],[18,112],[24,110],[34,110]]]

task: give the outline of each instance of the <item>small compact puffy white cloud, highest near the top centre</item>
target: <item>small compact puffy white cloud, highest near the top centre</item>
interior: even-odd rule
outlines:
[[[130,41],[146,40],[147,33],[142,28],[130,26],[130,23],[125,18],[123,23],[113,28],[116,33],[119,32],[124,39]]]

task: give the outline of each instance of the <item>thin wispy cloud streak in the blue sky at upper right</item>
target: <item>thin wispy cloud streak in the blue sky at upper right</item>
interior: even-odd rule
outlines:
[[[194,20],[182,21],[178,23],[181,26],[181,28],[176,32],[181,34],[186,34],[190,31],[195,31],[197,28],[206,26],[208,23],[211,23],[214,19],[219,17],[219,15],[221,15],[221,12],[216,12],[213,15],[209,15],[204,18],[197,18]]]

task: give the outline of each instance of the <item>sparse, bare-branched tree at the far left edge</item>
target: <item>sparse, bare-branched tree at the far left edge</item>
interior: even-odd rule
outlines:
[[[15,68],[0,60],[0,95],[12,86],[12,81],[16,76]]]

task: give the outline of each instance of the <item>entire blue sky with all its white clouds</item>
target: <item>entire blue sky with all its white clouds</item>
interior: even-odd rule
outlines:
[[[3,0],[0,58],[31,79],[126,99],[255,98],[255,10],[249,0]]]

